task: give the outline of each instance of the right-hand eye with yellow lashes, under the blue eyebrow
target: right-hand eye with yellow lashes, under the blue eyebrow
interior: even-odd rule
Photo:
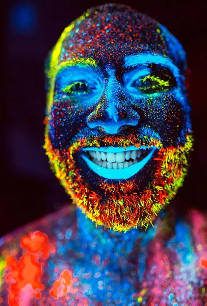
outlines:
[[[145,77],[140,77],[135,80],[132,84],[133,87],[142,91],[144,93],[154,93],[160,91],[169,90],[171,87],[170,80],[163,80],[162,78],[156,75],[145,75]]]

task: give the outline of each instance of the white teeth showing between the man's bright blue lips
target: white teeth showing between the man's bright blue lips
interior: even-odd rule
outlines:
[[[139,149],[126,152],[100,152],[100,151],[88,151],[88,154],[96,165],[108,169],[125,169],[128,168],[140,160],[142,160],[149,150]]]

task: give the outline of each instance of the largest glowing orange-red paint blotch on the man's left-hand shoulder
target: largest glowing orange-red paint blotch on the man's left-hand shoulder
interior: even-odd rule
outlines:
[[[40,291],[44,288],[40,277],[42,276],[43,259],[48,258],[50,250],[47,236],[36,231],[29,236],[24,236],[20,245],[27,252],[19,259],[19,262],[12,256],[6,258],[7,269],[9,269],[5,276],[10,290],[9,306],[24,305],[22,297],[25,295],[27,295],[28,303],[34,296],[40,298]]]

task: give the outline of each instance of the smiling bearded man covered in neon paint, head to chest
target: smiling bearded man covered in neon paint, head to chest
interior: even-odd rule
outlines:
[[[205,305],[206,217],[168,204],[192,150],[182,45],[124,5],[72,22],[46,65],[45,149],[76,205],[2,239],[17,305]]]

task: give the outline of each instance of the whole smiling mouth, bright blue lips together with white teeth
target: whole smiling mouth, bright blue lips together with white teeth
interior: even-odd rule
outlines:
[[[90,147],[83,149],[82,158],[96,174],[106,179],[129,179],[151,159],[157,148]]]

